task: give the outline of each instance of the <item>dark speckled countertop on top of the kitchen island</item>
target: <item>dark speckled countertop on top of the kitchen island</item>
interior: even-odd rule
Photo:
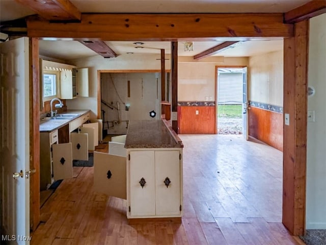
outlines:
[[[162,120],[129,122],[125,148],[181,148]]]

